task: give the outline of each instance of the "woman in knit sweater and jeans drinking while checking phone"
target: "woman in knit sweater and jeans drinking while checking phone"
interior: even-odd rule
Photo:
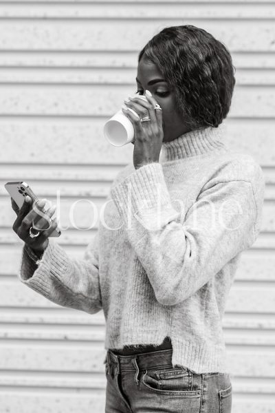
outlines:
[[[265,186],[256,161],[223,142],[234,83],[211,34],[164,28],[139,55],[146,100],[125,100],[133,164],[115,178],[83,260],[49,242],[55,221],[31,237],[32,220],[43,229],[45,219],[28,202],[17,211],[21,281],[61,306],[104,310],[107,413],[231,411],[221,323]]]

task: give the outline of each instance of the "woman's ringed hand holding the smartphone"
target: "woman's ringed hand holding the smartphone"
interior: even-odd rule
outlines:
[[[32,208],[32,200],[27,195],[22,207],[19,209],[17,203],[13,200],[13,198],[10,199],[12,201],[12,209],[17,214],[17,218],[12,226],[13,231],[17,233],[21,240],[23,240],[32,249],[34,249],[34,251],[43,253],[49,243],[48,237],[58,225],[56,218],[54,218],[54,220],[51,219],[52,215],[54,215],[56,206],[50,207],[44,213],[42,212],[42,209],[45,206],[47,200],[39,200],[36,204],[33,204],[34,208]],[[43,218],[45,215],[47,216],[47,219]],[[41,231],[38,237],[30,237],[29,230],[31,226],[34,227],[34,229],[32,230],[33,233]]]

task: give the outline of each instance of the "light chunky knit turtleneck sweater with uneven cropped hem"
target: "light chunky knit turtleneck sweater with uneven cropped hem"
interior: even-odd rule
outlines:
[[[82,259],[50,238],[24,244],[19,279],[63,307],[104,312],[104,348],[159,346],[195,373],[228,372],[222,319],[241,252],[259,235],[265,180],[230,149],[223,125],[162,143],[159,162],[130,162]]]

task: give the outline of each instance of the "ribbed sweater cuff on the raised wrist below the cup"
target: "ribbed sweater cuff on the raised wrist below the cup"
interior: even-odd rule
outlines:
[[[148,229],[159,229],[178,215],[171,205],[159,162],[136,169],[111,189],[111,197],[125,222],[138,214]]]

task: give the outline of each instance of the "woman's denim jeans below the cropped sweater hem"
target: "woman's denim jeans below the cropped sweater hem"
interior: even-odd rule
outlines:
[[[105,413],[230,413],[230,374],[173,368],[172,352],[122,356],[108,350]]]

